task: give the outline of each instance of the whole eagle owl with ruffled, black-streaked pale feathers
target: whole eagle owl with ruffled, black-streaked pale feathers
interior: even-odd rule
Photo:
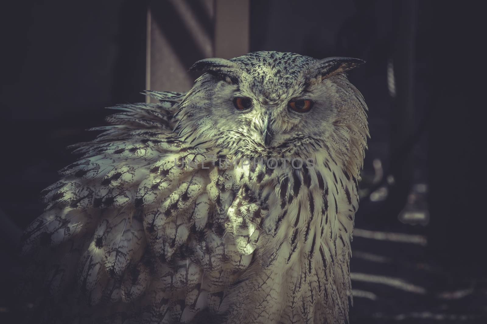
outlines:
[[[204,59],[187,93],[112,107],[24,233],[44,321],[346,322],[361,63]]]

